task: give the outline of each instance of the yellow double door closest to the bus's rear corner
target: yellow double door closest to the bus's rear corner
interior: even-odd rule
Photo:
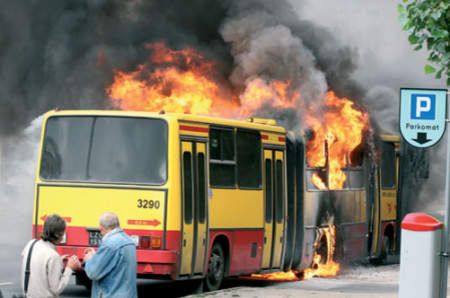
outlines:
[[[207,247],[206,143],[181,142],[182,249],[180,275],[202,274]]]

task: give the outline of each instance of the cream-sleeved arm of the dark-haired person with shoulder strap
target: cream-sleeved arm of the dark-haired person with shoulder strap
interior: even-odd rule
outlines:
[[[47,262],[47,278],[50,291],[58,296],[69,283],[72,269],[64,268],[64,263],[60,256],[53,255]]]

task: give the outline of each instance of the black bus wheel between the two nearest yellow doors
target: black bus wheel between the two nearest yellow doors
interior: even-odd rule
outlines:
[[[222,246],[215,243],[208,261],[208,273],[205,278],[205,289],[216,291],[222,284],[225,275],[225,255]]]

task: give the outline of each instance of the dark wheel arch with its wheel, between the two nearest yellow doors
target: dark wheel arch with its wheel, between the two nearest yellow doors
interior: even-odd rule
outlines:
[[[222,281],[229,272],[230,245],[225,235],[218,235],[211,246],[207,261],[207,272],[205,276],[205,290],[218,290]]]

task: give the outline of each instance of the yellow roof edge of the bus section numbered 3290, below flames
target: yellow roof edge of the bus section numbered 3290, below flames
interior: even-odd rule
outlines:
[[[181,120],[193,123],[204,123],[224,126],[236,126],[242,128],[253,128],[258,130],[286,133],[286,130],[278,125],[250,122],[246,120],[235,120],[210,116],[198,116],[191,114],[176,113],[154,113],[154,112],[136,112],[119,110],[51,110],[46,113],[46,117],[52,116],[122,116],[122,117],[151,117],[169,120]],[[267,121],[272,123],[272,121]]]

